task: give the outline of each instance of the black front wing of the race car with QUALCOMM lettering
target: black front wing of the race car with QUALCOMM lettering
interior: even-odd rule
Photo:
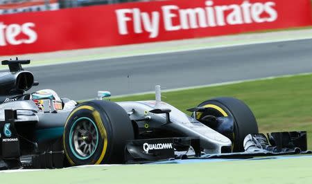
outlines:
[[[173,159],[252,158],[312,153],[307,150],[306,131],[274,132],[267,135],[268,138],[263,134],[250,134],[250,137],[265,137],[268,144],[245,145],[246,151],[222,154],[203,154],[200,151],[200,139],[196,137],[129,140],[125,147],[125,160],[127,163],[150,163]]]

